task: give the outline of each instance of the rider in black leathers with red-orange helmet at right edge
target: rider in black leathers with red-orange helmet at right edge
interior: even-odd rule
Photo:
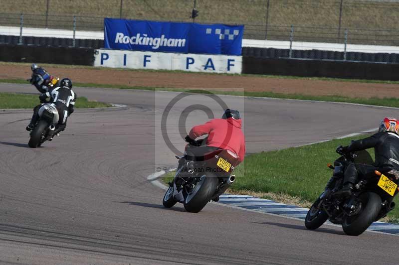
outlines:
[[[399,170],[399,121],[393,118],[385,118],[381,121],[379,132],[357,141],[349,146],[339,146],[337,152],[349,153],[368,148],[374,148],[375,165],[351,163],[344,174],[344,186],[335,193],[335,196],[350,197],[358,177],[374,177],[374,171],[380,167],[390,166]]]

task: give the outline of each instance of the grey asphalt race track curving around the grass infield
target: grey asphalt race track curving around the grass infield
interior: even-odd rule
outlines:
[[[35,92],[13,84],[0,91]],[[0,112],[0,264],[398,264],[393,235],[309,231],[303,221],[217,203],[199,214],[181,204],[163,208],[164,191],[147,176],[175,163],[156,144],[157,117],[178,93],[74,91],[127,107],[77,110],[61,137],[37,149],[27,148],[30,111]],[[399,116],[379,107],[222,98],[244,109],[248,153],[367,131],[384,116]],[[206,119],[189,117],[190,126]],[[183,148],[180,135],[170,137]]]

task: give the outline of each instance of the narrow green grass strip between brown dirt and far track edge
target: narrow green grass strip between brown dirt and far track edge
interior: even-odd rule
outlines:
[[[26,84],[25,80],[22,79],[0,79],[0,83],[14,83],[14,84]],[[115,89],[132,89],[132,90],[149,90],[149,91],[175,91],[175,92],[186,92],[187,89],[182,88],[158,88],[158,87],[137,87],[137,86],[121,86],[121,85],[108,85],[108,84],[94,84],[94,83],[74,83],[77,87],[97,87],[97,88],[115,88]],[[399,108],[398,98],[349,98],[343,96],[311,96],[302,94],[282,94],[274,92],[247,92],[247,91],[219,91],[212,90],[211,92],[206,89],[191,90],[193,93],[203,94],[218,94],[218,95],[233,95],[233,96],[245,96],[245,97],[266,97],[266,98],[277,98],[277,99],[295,99],[295,100],[312,100],[312,101],[330,101],[330,102],[343,102],[343,103],[356,103],[364,105],[374,106],[385,106]]]

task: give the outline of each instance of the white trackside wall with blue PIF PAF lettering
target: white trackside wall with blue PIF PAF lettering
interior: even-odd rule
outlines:
[[[94,66],[240,74],[242,57],[127,50],[96,50]]]

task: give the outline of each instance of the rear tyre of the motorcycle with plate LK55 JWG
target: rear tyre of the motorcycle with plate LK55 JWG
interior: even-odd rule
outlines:
[[[382,200],[374,192],[365,192],[359,196],[362,202],[360,213],[348,216],[342,224],[342,229],[349,236],[359,236],[376,220],[382,207]]]

